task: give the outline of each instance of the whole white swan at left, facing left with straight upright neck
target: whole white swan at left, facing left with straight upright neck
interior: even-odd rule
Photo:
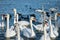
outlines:
[[[5,33],[5,37],[6,38],[14,37],[16,35],[15,31],[9,28],[9,14],[7,14],[6,17],[7,17],[7,30]]]

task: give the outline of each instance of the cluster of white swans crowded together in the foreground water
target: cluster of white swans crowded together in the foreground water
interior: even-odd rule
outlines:
[[[32,23],[32,21],[35,21],[34,17],[30,17],[30,22],[18,21],[18,14],[16,12],[16,9],[14,9],[14,24],[18,24],[18,25],[11,26],[10,28],[9,28],[9,14],[7,14],[5,17],[7,18],[7,29],[6,29],[5,37],[7,38],[14,37],[17,34],[18,40],[22,40],[20,36],[21,35],[20,31],[23,32],[22,33],[23,36],[27,38],[33,38],[36,36],[34,32],[34,28],[44,33],[39,40],[51,40],[50,38],[55,39],[59,35],[58,30],[51,23],[51,17],[49,17],[49,22],[45,20],[44,26],[43,24],[34,25]]]

